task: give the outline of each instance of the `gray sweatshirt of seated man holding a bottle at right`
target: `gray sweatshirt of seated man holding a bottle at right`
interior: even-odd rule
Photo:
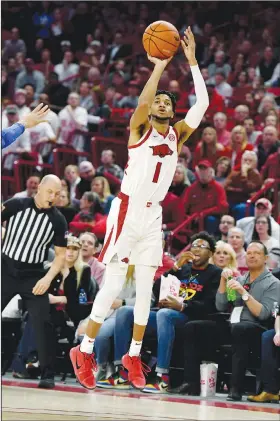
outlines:
[[[242,286],[249,284],[250,274],[249,272],[237,278]],[[243,310],[240,316],[240,321],[254,322],[259,325],[262,324],[262,321],[269,319],[272,316],[273,303],[277,301],[280,302],[280,281],[269,272],[268,269],[265,269],[263,273],[258,276],[254,282],[250,285],[250,295],[252,295],[255,300],[262,304],[262,310],[258,317],[253,316],[246,304],[241,298],[241,295],[236,292],[237,299],[234,303],[235,307],[242,306]],[[227,311],[228,310],[228,300],[227,293],[221,294],[219,291],[216,294],[216,307],[218,311]]]

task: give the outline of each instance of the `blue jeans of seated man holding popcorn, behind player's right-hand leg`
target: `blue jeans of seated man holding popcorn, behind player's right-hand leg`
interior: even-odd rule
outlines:
[[[162,308],[158,311],[150,311],[146,336],[156,336],[158,340],[157,367],[158,373],[168,373],[172,356],[175,328],[183,327],[188,321],[184,313]],[[129,349],[131,331],[134,323],[133,307],[124,306],[118,309],[115,327],[115,365],[121,364],[122,356]]]

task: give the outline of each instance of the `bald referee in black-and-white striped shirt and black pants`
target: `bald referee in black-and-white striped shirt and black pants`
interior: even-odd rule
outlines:
[[[61,190],[55,175],[45,176],[34,198],[15,198],[4,203],[2,221],[6,232],[2,246],[2,311],[19,294],[35,330],[41,366],[39,387],[54,387],[55,343],[50,321],[48,288],[64,264],[67,223],[54,207]],[[54,244],[55,259],[43,269]]]

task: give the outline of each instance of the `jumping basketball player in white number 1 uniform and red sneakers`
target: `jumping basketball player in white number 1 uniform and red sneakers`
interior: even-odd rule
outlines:
[[[81,346],[70,351],[75,374],[88,389],[95,388],[94,340],[123,287],[128,264],[135,265],[136,303],[132,343],[122,363],[133,387],[143,389],[146,384],[140,351],[150,311],[153,278],[162,258],[160,202],[172,182],[182,145],[198,127],[209,105],[190,27],[181,44],[191,66],[197,101],[184,120],[170,126],[176,100],[167,91],[157,91],[157,86],[172,57],[159,60],[148,56],[155,67],[130,120],[129,160],[121,192],[112,202],[99,257],[106,264],[105,284],[95,299]]]

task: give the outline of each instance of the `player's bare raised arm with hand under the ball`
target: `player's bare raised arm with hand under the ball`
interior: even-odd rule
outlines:
[[[149,108],[155,99],[159,80],[165,67],[172,58],[173,57],[166,60],[160,60],[148,55],[148,59],[154,63],[155,67],[149,80],[144,86],[141,95],[139,96],[138,106],[130,119],[130,130],[137,130],[139,126],[148,122]]]

